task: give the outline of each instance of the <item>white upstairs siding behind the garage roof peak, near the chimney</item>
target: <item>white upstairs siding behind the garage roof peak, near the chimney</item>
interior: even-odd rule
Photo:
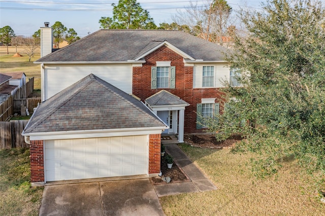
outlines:
[[[43,100],[47,100],[82,78],[94,74],[113,86],[132,93],[132,64],[45,65]]]

